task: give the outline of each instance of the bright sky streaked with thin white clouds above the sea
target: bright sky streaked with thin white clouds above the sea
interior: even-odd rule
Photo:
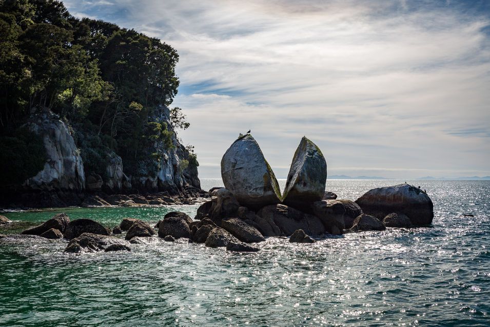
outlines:
[[[200,178],[248,129],[278,178],[303,136],[329,176],[490,175],[490,1],[64,4],[177,49]]]

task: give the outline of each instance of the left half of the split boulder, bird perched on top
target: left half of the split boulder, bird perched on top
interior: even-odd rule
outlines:
[[[281,200],[276,176],[250,134],[226,150],[221,160],[221,176],[226,189],[243,206],[259,209]]]

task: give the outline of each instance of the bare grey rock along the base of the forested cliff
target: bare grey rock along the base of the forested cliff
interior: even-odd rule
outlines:
[[[170,126],[167,107],[162,106],[156,115],[153,119]],[[56,114],[50,111],[35,113],[27,125],[31,131],[43,138],[48,159],[43,170],[25,181],[25,191],[80,193],[102,190],[109,194],[168,191],[170,194],[178,194],[188,186],[201,188],[197,167],[187,165],[190,153],[179,142],[175,132],[172,136],[172,149],[163,149],[163,144],[155,144],[155,147],[162,150],[160,163],[153,165],[158,166],[158,169],[125,171],[121,157],[109,151],[106,153],[105,176],[100,176],[91,171],[84,171],[80,150],[75,145],[69,127]]]

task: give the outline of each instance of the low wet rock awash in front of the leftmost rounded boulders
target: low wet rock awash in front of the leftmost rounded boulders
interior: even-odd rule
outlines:
[[[83,233],[82,235],[72,239],[68,243],[67,247],[65,248],[65,252],[82,253],[82,252],[105,251],[105,249],[111,245],[125,246],[127,245],[127,243],[116,237],[91,234],[91,233]]]

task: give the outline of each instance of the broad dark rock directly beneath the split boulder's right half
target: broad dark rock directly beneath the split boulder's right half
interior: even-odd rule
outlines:
[[[319,218],[283,204],[265,206],[257,214],[272,220],[285,236],[290,236],[297,229],[303,229],[308,235],[325,234],[325,227]]]

